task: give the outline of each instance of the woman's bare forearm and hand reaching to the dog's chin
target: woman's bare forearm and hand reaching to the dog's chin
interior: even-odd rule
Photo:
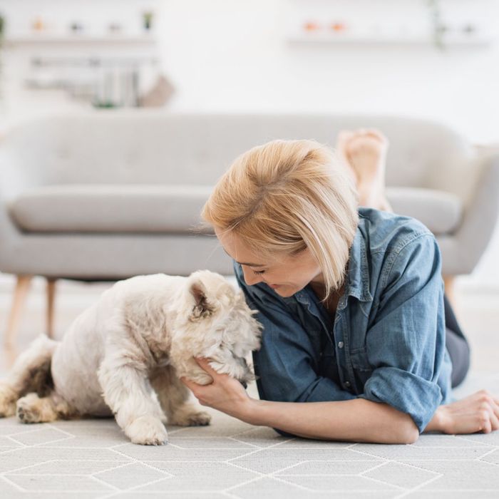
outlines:
[[[305,438],[374,443],[413,443],[419,432],[411,416],[386,403],[355,398],[337,402],[273,402],[250,398],[239,381],[198,363],[213,378],[200,386],[182,379],[200,403],[247,423],[271,426]]]

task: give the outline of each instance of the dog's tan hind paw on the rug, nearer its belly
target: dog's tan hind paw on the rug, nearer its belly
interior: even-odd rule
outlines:
[[[76,411],[55,391],[46,397],[36,393],[19,398],[16,415],[21,423],[49,423],[56,419],[69,419]]]

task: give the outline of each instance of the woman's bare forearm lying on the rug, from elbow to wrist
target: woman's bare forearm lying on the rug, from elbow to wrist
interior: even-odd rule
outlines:
[[[305,438],[372,443],[413,443],[411,416],[386,403],[355,398],[338,402],[272,402],[249,398],[237,417]]]

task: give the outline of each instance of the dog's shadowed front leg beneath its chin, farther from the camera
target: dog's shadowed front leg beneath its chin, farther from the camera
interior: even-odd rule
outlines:
[[[178,426],[206,426],[210,424],[211,416],[200,411],[199,406],[189,401],[190,391],[178,379],[172,366],[155,369],[150,376],[161,408],[168,417],[168,424]]]

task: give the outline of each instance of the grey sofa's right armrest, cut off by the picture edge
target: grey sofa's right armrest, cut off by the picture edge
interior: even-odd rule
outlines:
[[[493,235],[499,215],[499,154],[488,155],[476,164],[478,178],[453,247],[454,274],[471,272]],[[463,179],[465,182],[465,179]],[[458,269],[460,269],[458,271]]]

